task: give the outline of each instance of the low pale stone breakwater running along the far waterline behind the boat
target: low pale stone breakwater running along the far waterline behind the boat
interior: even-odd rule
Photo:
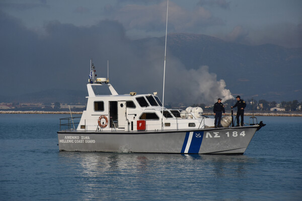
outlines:
[[[82,114],[83,112],[71,112],[71,114]],[[70,115],[68,111],[0,111],[0,114],[53,114],[53,115]],[[213,116],[213,113],[203,113],[205,116]],[[225,116],[230,116],[231,113],[225,113]],[[245,113],[245,116],[252,116],[253,113]],[[236,112],[234,115],[236,117]],[[271,117],[302,117],[302,113],[254,113],[254,116],[271,116]]]

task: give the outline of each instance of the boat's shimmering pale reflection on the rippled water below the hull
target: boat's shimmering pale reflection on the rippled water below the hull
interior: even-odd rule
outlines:
[[[126,194],[154,194],[167,186],[171,190],[208,186],[213,178],[244,178],[254,159],[248,156],[59,152],[62,167],[68,167],[81,181],[89,199],[103,196],[124,198]],[[221,186],[211,182],[212,188]],[[153,189],[155,191],[152,191]],[[112,195],[106,194],[110,191]],[[87,195],[87,193],[85,193]],[[129,195],[130,196],[130,195]],[[132,195],[133,197],[133,195]],[[87,197],[82,197],[86,199]]]

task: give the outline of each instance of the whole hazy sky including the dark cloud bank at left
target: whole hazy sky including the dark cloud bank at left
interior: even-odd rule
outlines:
[[[111,71],[119,72],[112,79],[116,79],[121,91],[130,90],[120,81],[125,76],[131,77],[131,87],[140,82],[148,90],[160,90],[163,44],[152,44],[137,55],[137,50],[131,49],[131,41],[164,36],[166,10],[167,1],[160,0],[1,0],[1,94],[45,88],[85,90],[87,77],[83,78],[83,74],[87,69],[83,67],[89,65],[91,57],[96,66],[106,66],[110,60]],[[296,48],[302,47],[301,11],[300,0],[172,0],[168,32]],[[170,63],[187,73],[181,63]],[[143,67],[143,72],[139,72]],[[206,75],[216,73],[202,69]],[[161,83],[150,86],[150,73]],[[224,91],[228,89],[223,80],[215,80],[215,74],[211,76]]]

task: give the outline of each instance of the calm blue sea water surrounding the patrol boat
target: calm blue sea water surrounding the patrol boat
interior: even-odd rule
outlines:
[[[0,200],[302,200],[301,117],[241,156],[59,152],[63,117],[0,114]]]

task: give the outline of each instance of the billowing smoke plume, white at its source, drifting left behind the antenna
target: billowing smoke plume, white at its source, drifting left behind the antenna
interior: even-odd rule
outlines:
[[[129,87],[138,93],[158,92],[162,99],[164,76],[164,48],[158,44],[148,43],[139,58],[136,57],[131,68],[118,73],[119,80],[126,80],[122,87]],[[134,57],[133,57],[134,58]],[[213,104],[220,97],[223,101],[234,98],[226,88],[223,79],[217,80],[215,73],[209,72],[208,66],[187,69],[175,56],[168,54],[165,78],[165,103]],[[196,67],[195,67],[196,68]],[[125,83],[125,82],[124,82]],[[121,86],[119,86],[121,87]],[[125,93],[127,93],[125,91]]]

